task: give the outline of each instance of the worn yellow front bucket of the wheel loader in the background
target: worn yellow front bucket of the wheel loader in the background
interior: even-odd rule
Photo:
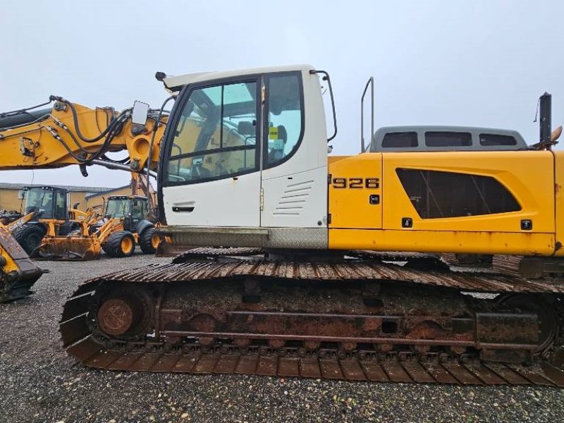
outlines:
[[[100,258],[102,247],[94,235],[44,236],[31,257],[43,260],[86,261]]]

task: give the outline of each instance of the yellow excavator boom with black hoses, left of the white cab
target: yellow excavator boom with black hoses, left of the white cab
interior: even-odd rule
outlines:
[[[157,112],[149,110],[145,123],[133,123],[133,108],[116,113],[62,97],[51,96],[50,100],[52,108],[41,114],[26,109],[0,115],[0,170],[78,164],[85,173],[85,166],[98,164],[141,172],[147,161],[149,170],[157,167],[166,116],[155,126]],[[13,124],[23,120],[25,123]],[[125,150],[128,157],[121,161],[106,156]]]

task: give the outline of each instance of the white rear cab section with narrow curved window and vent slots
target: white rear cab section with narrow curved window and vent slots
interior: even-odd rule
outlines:
[[[319,78],[289,71],[266,74],[263,83],[261,226],[326,228],[327,135]]]

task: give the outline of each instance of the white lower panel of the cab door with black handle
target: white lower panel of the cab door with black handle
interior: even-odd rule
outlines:
[[[260,173],[164,187],[163,202],[172,226],[260,226]]]

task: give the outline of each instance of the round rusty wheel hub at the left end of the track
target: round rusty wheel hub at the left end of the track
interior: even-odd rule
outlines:
[[[100,329],[111,336],[120,336],[139,321],[137,307],[122,298],[106,300],[98,310]]]

